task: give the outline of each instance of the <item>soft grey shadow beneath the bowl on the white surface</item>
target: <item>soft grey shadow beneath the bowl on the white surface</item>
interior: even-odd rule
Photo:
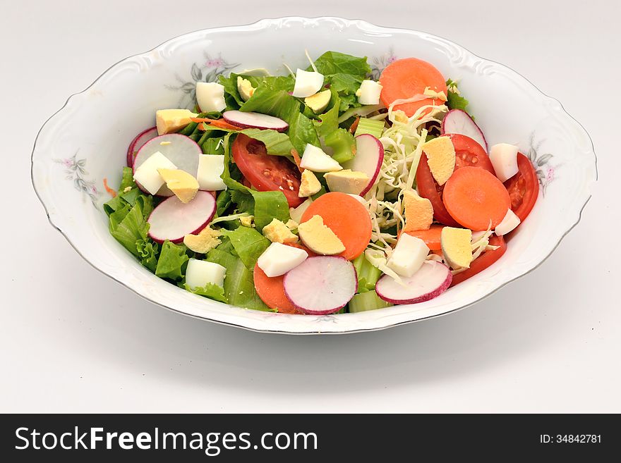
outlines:
[[[60,259],[64,249],[57,253]],[[566,268],[568,261],[556,252],[529,276],[448,316],[385,331],[323,336],[254,333],[198,321],[157,307],[89,267],[76,276],[72,303],[61,309],[84,329],[49,342],[79,345],[93,362],[181,388],[323,395],[326,385],[334,394],[346,394],[352,388],[442,383],[514,362],[554,342],[567,316],[566,308],[553,304],[554,288],[549,300],[524,304],[524,295],[548,266]],[[61,285],[61,276],[50,278]]]

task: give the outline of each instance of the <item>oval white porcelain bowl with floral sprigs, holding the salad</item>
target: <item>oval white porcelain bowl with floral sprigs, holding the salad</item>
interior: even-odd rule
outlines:
[[[493,266],[423,302],[358,314],[297,316],[231,307],[181,290],[140,266],[108,233],[104,178],[118,182],[132,138],[156,109],[193,106],[195,81],[267,68],[284,73],[327,50],[368,56],[375,76],[395,58],[416,56],[459,80],[490,144],[512,142],[538,168],[541,192],[529,218]],[[279,18],[176,37],[109,68],[45,123],[32,153],[32,182],[49,220],[92,266],[162,307],[198,319],[273,333],[370,331],[448,314],[541,264],[579,221],[596,179],[589,135],[528,80],[440,37],[340,18]]]

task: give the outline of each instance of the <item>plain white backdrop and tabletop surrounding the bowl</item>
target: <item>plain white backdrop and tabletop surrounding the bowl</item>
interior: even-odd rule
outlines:
[[[619,2],[0,2],[1,412],[621,412]],[[121,58],[288,15],[432,32],[562,101],[598,154],[581,223],[474,307],[358,335],[196,321],[95,271],[32,190],[42,123]]]

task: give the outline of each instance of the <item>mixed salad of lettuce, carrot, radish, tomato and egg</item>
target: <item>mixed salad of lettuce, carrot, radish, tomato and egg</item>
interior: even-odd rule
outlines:
[[[306,56],[155,111],[107,185],[120,245],[195,295],[301,315],[426,302],[502,266],[539,195],[531,159],[488,146],[433,63]]]

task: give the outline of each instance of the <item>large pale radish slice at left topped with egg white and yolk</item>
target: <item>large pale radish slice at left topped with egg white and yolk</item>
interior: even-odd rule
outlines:
[[[156,152],[164,154],[174,163],[176,168],[186,171],[196,178],[198,174],[198,160],[200,159],[200,154],[203,154],[203,150],[191,138],[179,133],[169,133],[152,138],[152,140],[147,141],[138,150],[138,154],[136,154],[133,161],[133,172],[135,173],[140,164]],[[143,192],[146,192],[140,184],[138,184],[138,187]],[[157,196],[173,196],[173,192],[166,185],[162,185],[162,188],[157,192]]]

